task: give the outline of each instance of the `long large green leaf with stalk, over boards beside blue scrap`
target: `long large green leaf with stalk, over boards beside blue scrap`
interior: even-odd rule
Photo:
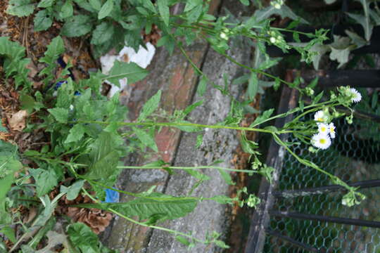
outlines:
[[[151,193],[124,203],[83,204],[81,207],[91,207],[106,210],[107,208],[125,214],[125,216],[139,216],[139,219],[149,219],[160,214],[161,221],[178,219],[193,212],[198,200],[192,197],[173,197],[163,193]]]

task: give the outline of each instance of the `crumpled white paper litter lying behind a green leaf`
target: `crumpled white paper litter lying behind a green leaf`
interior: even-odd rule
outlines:
[[[101,56],[101,72],[103,74],[108,74],[110,72],[110,69],[113,67],[113,63],[115,63],[115,60],[120,60],[125,63],[136,63],[140,67],[144,68],[148,67],[148,65],[151,63],[151,60],[153,59],[154,54],[156,53],[156,48],[148,42],[146,43],[146,49],[140,46],[139,51],[136,52],[133,48],[125,46],[122,48],[118,55],[110,55],[107,53],[105,56]],[[113,95],[115,95],[116,92],[125,89],[127,86],[127,78],[119,80],[120,88],[111,84],[110,82],[107,83],[111,85],[111,89],[107,94],[108,98],[111,98]]]

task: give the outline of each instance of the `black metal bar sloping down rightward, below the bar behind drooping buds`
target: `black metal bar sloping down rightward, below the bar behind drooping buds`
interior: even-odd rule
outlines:
[[[361,219],[349,219],[349,218],[341,218],[336,216],[322,216],[315,214],[300,214],[298,212],[281,212],[281,211],[270,211],[270,215],[284,218],[292,218],[292,219],[305,219],[312,221],[324,221],[329,223],[340,223],[346,225],[354,225],[354,226],[365,226],[370,228],[380,228],[380,221],[365,221]]]

